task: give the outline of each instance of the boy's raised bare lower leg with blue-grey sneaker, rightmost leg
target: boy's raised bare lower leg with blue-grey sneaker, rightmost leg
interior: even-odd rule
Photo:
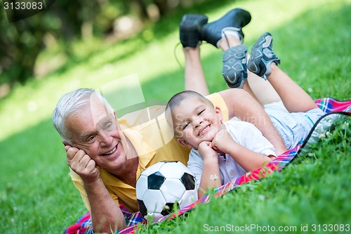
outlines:
[[[277,67],[279,63],[272,48],[272,35],[266,32],[251,50],[248,69],[263,79],[268,79],[289,112],[306,112],[317,108],[314,100]]]

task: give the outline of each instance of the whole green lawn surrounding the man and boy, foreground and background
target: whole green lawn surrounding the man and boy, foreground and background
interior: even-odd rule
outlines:
[[[249,47],[270,31],[282,69],[312,98],[351,98],[350,0],[221,2],[187,11],[208,13],[212,21],[233,7],[249,10],[253,18],[244,29]],[[17,86],[1,100],[1,233],[62,233],[84,214],[84,204],[68,175],[63,145],[51,124],[55,103],[67,91],[98,88],[133,73],[138,74],[146,100],[166,101],[181,91],[183,68],[176,63],[173,48],[183,13],[175,11],[129,41],[75,41],[69,58],[60,46],[49,48],[41,54],[39,65],[46,65],[54,55],[62,65],[26,86]],[[180,47],[176,56],[183,63]],[[221,52],[203,44],[201,55],[210,90],[226,89],[220,76]],[[312,150],[314,157],[301,157],[282,173],[211,200],[185,221],[177,219],[143,232],[204,233],[205,223],[351,224],[350,133],[345,136],[344,132],[338,131],[333,141],[325,139]]]

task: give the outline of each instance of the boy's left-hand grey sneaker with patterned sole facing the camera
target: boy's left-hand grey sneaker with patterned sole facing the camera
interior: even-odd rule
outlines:
[[[230,88],[242,88],[247,79],[247,47],[234,46],[223,53],[222,74]]]

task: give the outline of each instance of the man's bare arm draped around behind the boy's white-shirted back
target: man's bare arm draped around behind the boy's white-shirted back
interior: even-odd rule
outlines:
[[[226,89],[220,91],[220,96],[225,100],[229,118],[238,117],[242,121],[254,124],[275,148],[277,155],[286,151],[282,137],[275,129],[270,117],[262,105],[249,93],[242,89]]]

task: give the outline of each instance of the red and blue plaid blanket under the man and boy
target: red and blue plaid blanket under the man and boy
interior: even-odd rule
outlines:
[[[326,118],[329,113],[347,113],[348,115],[351,115],[351,100],[345,100],[345,101],[340,101],[336,100],[333,98],[321,98],[315,101],[317,106],[322,109],[324,112],[326,112],[326,115],[324,117],[321,117],[319,121],[314,124],[314,127],[310,131],[310,135],[307,137],[307,139],[296,145],[295,148],[288,150],[284,152],[282,155],[279,155],[276,157],[272,162],[268,163],[265,165],[265,167],[261,167],[259,169],[256,169],[255,171],[251,171],[244,176],[241,176],[237,178],[236,181],[231,181],[229,183],[226,183],[223,186],[220,186],[219,188],[216,188],[215,190],[215,197],[220,197],[225,195],[225,193],[228,193],[237,186],[240,186],[242,183],[248,183],[249,181],[252,180],[257,180],[260,178],[264,178],[267,174],[271,174],[273,171],[281,171],[289,162],[293,160],[293,158],[296,156],[299,150],[302,150],[303,148],[306,147],[306,143],[312,141],[316,141],[313,138],[318,138],[318,136],[313,136],[313,134],[320,134],[319,131],[323,130],[324,126],[330,126],[331,123],[333,123],[338,117],[329,117]],[[341,115],[341,113],[340,113]],[[325,120],[322,122],[322,120]],[[321,130],[322,129],[322,130]],[[309,141],[310,140],[310,141]],[[303,148],[302,148],[303,147]],[[176,216],[179,216],[181,214],[184,214],[186,212],[189,212],[191,209],[194,209],[194,207],[197,207],[198,204],[203,204],[209,201],[208,196],[201,197],[197,202],[194,202],[193,204],[190,204],[187,207],[184,207],[183,209],[179,209],[178,212],[171,214],[170,216],[165,216],[164,218],[159,219],[157,222],[164,221],[166,219],[173,219]],[[115,234],[126,234],[126,233],[134,233],[134,231],[138,228],[137,224],[142,223],[145,224],[147,223],[146,219],[143,218],[143,215],[140,214],[140,212],[136,213],[131,213],[128,212],[126,208],[124,208],[121,205],[121,211],[124,214],[124,217],[126,219],[127,226],[124,229],[118,230]],[[65,234],[91,234],[93,232],[93,226],[91,223],[91,216],[89,213],[84,214],[81,216],[81,218],[74,223],[74,225],[69,226],[65,230]]]

